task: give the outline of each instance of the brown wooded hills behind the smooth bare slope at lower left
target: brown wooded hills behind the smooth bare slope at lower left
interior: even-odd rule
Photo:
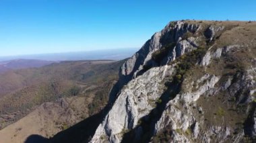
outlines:
[[[123,61],[61,62],[42,68],[12,70],[0,75],[0,79],[8,81],[7,85],[1,82],[0,87],[2,85],[2,89],[9,91],[0,97],[0,128],[20,120],[38,105],[61,97],[95,98],[92,101],[97,107],[90,114],[97,113],[108,101],[107,93],[114,84],[113,81],[118,79],[122,63]]]

